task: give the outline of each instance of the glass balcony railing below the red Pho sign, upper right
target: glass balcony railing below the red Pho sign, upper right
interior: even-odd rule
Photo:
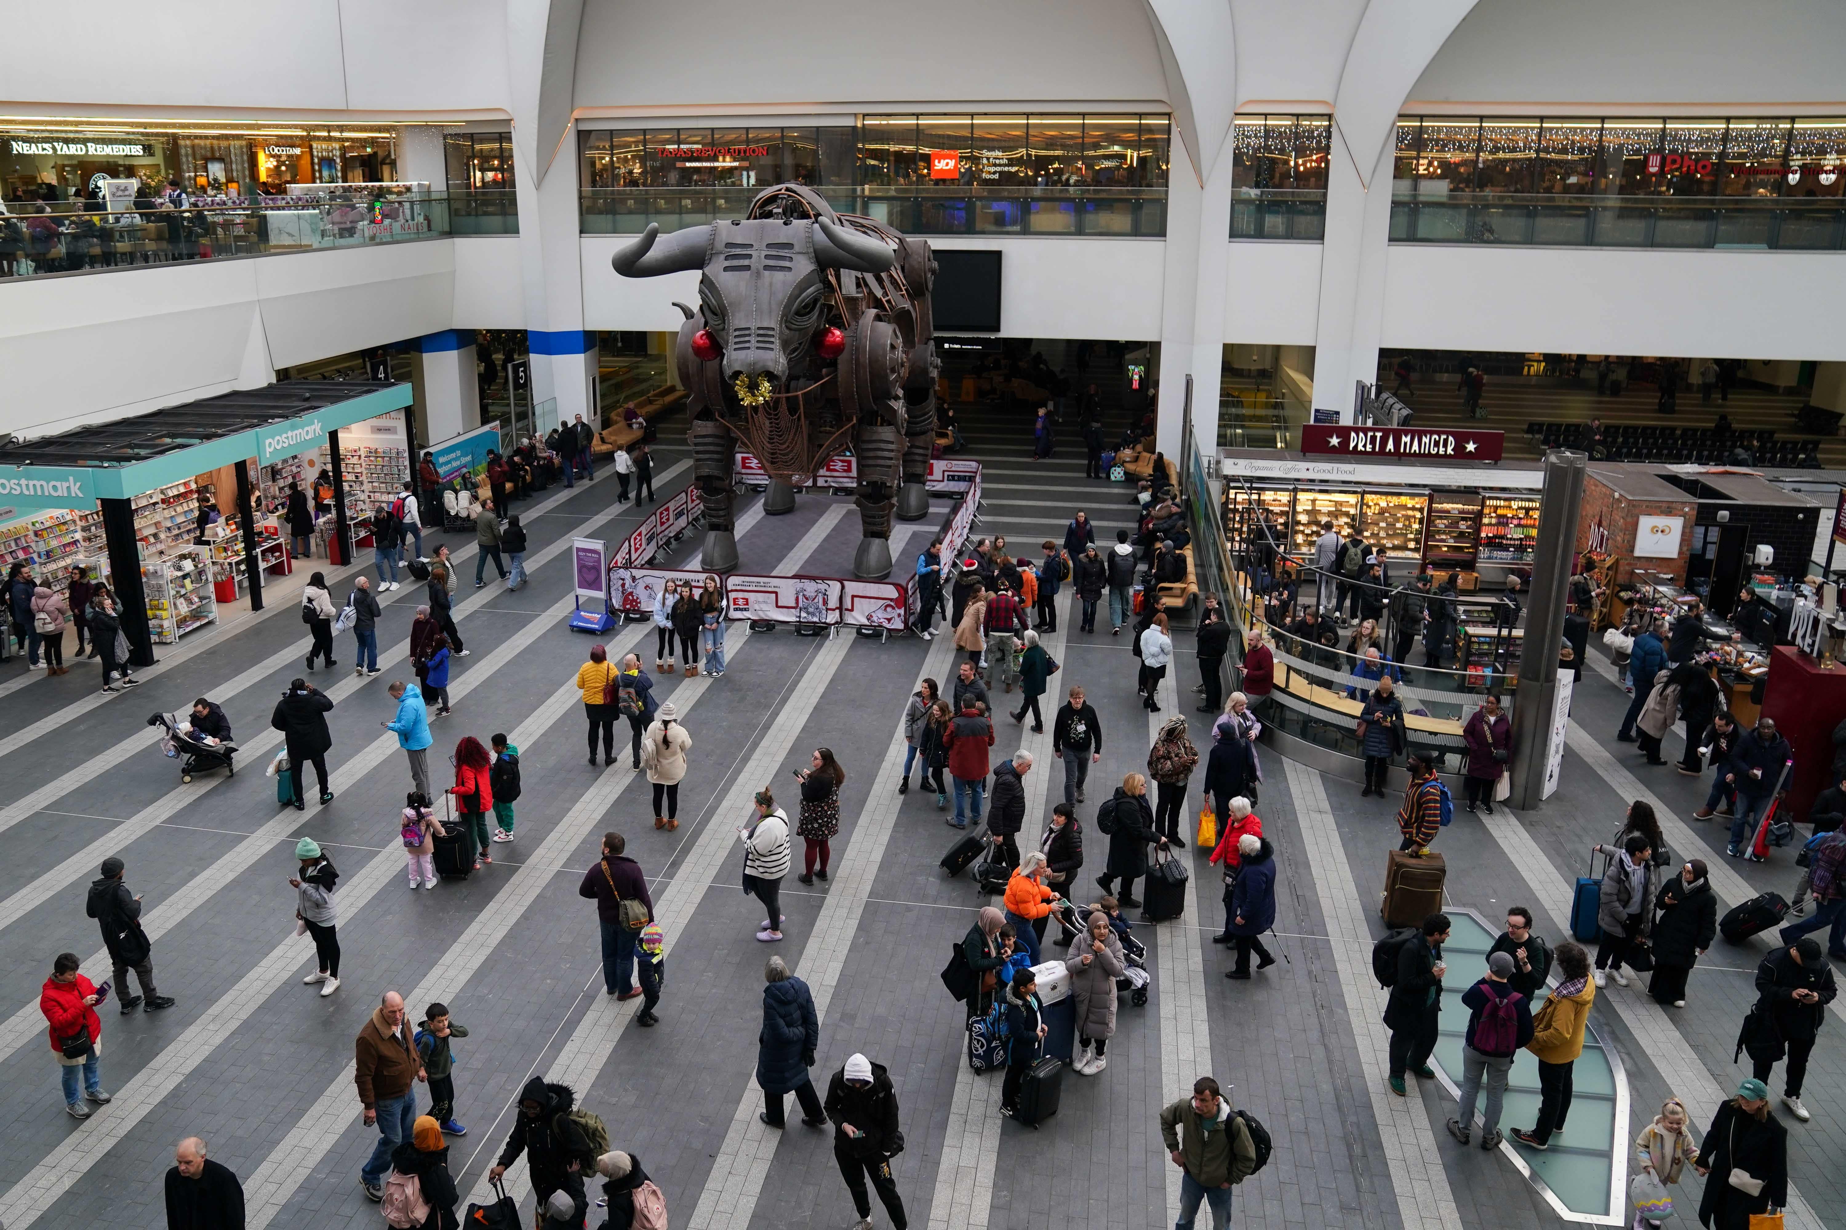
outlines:
[[[1390,242],[1839,251],[1846,199],[1449,194],[1394,201]]]

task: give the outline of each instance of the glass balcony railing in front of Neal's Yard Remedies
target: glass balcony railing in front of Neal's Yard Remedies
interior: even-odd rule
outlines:
[[[478,194],[476,194],[478,195]],[[511,197],[513,194],[504,194]],[[214,197],[186,208],[92,212],[89,201],[7,201],[0,278],[107,273],[183,260],[404,243],[517,231],[517,216],[469,212],[474,197],[402,194],[371,199]],[[506,203],[509,210],[511,201]],[[456,216],[471,229],[454,227]]]

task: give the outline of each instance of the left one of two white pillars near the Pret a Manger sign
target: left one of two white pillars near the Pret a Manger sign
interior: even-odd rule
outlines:
[[[1193,376],[1193,437],[1218,450],[1218,385],[1224,374],[1224,302],[1231,234],[1231,159],[1198,183],[1183,142],[1172,142],[1167,175],[1165,295],[1159,337],[1159,406],[1154,441],[1180,457],[1185,378]]]

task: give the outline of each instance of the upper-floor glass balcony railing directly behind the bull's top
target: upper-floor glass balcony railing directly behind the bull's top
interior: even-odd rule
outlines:
[[[742,218],[761,188],[593,188],[583,234],[639,234]],[[868,188],[820,190],[842,214],[905,234],[1165,236],[1165,188]]]

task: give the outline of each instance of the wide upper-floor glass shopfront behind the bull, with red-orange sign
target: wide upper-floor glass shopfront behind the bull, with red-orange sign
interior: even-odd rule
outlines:
[[[740,218],[759,190],[794,181],[916,234],[1165,234],[1169,129],[1141,114],[873,114],[583,131],[583,231]]]

